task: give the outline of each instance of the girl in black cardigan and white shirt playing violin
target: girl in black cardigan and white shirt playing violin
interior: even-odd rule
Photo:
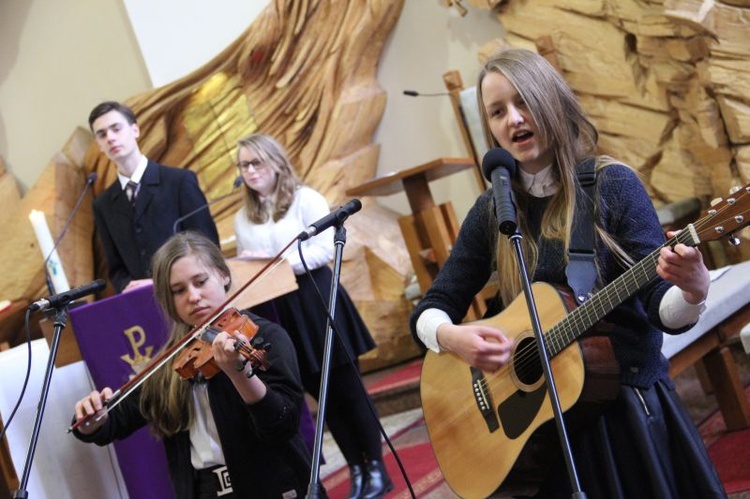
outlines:
[[[173,321],[169,348],[218,311],[230,271],[219,248],[192,232],[169,239],[152,267],[154,293]],[[76,422],[101,417],[78,426],[76,437],[106,445],[150,424],[164,440],[179,498],[304,497],[310,453],[299,433],[304,399],[294,345],[280,326],[244,314],[271,345],[266,370],[253,369],[235,349],[247,337],[222,331],[210,346],[217,374],[186,381],[167,363],[108,413],[112,390],[94,391],[76,403]]]

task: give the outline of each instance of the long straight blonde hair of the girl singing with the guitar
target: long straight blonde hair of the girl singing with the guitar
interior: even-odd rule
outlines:
[[[479,73],[477,97],[482,129],[488,144],[500,146],[490,130],[482,98],[482,81],[489,73],[505,76],[516,88],[531,112],[543,147],[551,148],[554,152],[552,174],[559,182],[560,189],[552,196],[545,209],[541,236],[561,240],[567,258],[576,197],[583,195],[577,187],[576,165],[586,158],[594,157],[598,170],[615,161],[607,156],[596,156],[599,134],[558,71],[544,57],[525,49],[508,49],[494,54]],[[513,188],[519,206],[523,207],[528,204],[528,195],[520,187],[518,178],[516,175],[513,179]],[[598,221],[599,217],[595,215],[594,220]],[[518,226],[522,234],[529,233],[528,223],[525,210],[519,209]],[[630,263],[627,255],[598,224],[597,234],[607,246],[612,247],[619,258]],[[533,238],[523,238],[522,247],[529,265],[529,274],[533,275],[539,256],[537,242]],[[508,238],[497,237],[496,258],[500,296],[503,303],[508,304],[522,291]]]

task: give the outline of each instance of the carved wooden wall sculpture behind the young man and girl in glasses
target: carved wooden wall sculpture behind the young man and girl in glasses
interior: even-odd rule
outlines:
[[[239,39],[205,66],[125,100],[138,116],[141,149],[161,163],[194,170],[212,199],[231,190],[237,139],[262,131],[286,146],[303,181],[332,207],[342,204],[348,188],[376,173],[379,149],[371,139],[386,95],[375,74],[402,7],[403,0],[270,2]],[[13,230],[10,240],[0,241],[0,270],[13,278],[0,284],[0,297],[22,306],[45,289],[27,218],[30,209],[54,213],[50,226],[56,234],[75,203],[69,193],[77,196],[89,172],[98,174],[96,194],[116,178],[114,165],[99,153],[88,131],[76,131],[65,151],[65,161],[47,167],[18,209],[3,210]],[[235,253],[232,218],[240,203],[238,194],[211,209],[227,256]],[[363,369],[371,369],[413,357],[418,350],[408,332],[403,290],[410,263],[396,214],[367,199],[363,204],[362,212],[347,221],[342,282],[380,346],[362,359]],[[85,205],[60,246],[71,286],[103,275],[101,256],[96,252],[93,257],[90,200]],[[0,323],[0,341],[15,344],[21,340],[17,333],[3,331]]]

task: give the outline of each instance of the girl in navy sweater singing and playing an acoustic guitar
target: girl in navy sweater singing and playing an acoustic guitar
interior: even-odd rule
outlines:
[[[640,275],[628,274],[631,269],[643,269],[649,277],[639,289],[617,293],[610,288],[604,308],[612,305],[611,310],[596,321],[598,334],[609,339],[619,365],[619,388],[615,383],[614,400],[599,415],[569,427],[583,492],[591,498],[724,497],[661,354],[662,332],[686,331],[705,308],[710,278],[701,253],[694,244],[665,245],[638,175],[613,158],[597,155],[597,130],[542,56],[520,49],[495,54],[483,66],[477,89],[488,142],[515,159],[510,181],[531,280],[568,284],[571,228],[580,215],[576,198],[584,195],[577,185],[578,166],[587,159],[593,159],[596,174],[592,218],[597,278],[589,301],[620,276],[637,282]],[[650,254],[650,266],[638,264]],[[462,497],[490,495],[503,483],[535,426],[542,430],[539,422],[553,419],[544,384],[524,379],[516,369],[530,329],[516,328],[503,315],[515,314],[529,324],[526,309],[517,306],[524,297],[517,298],[523,289],[515,256],[510,239],[498,233],[490,189],[468,213],[450,258],[411,317],[415,339],[429,349],[425,368],[430,357],[441,359],[439,369],[422,373],[425,421],[446,481]],[[487,317],[498,320],[461,324],[472,297],[490,279],[499,292]],[[555,299],[560,302],[556,296],[537,297],[543,314]],[[555,325],[565,313],[560,308],[562,314],[555,311],[554,320],[542,317],[542,322]],[[582,329],[575,334],[585,335],[590,328]],[[530,355],[538,359],[532,351],[523,360],[532,360]],[[558,389],[569,389],[566,375],[577,367],[566,369],[559,362],[556,367],[554,362],[553,373],[560,370],[555,376]],[[434,383],[435,402],[450,406],[434,418],[432,374],[443,376]],[[463,384],[466,400],[456,395],[454,383]],[[543,411],[549,414],[537,418]],[[551,429],[554,434],[554,426]],[[539,463],[536,497],[571,497],[559,443],[553,440],[552,454]],[[447,447],[452,454],[442,456],[440,449]]]

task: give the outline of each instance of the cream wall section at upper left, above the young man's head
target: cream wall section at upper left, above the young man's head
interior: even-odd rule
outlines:
[[[0,1],[0,156],[22,192],[96,104],[149,86],[120,0]]]

